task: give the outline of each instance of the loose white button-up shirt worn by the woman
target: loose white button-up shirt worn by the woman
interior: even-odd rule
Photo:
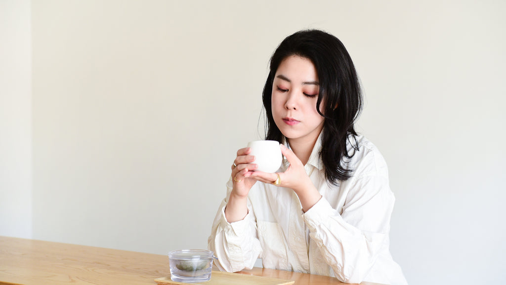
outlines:
[[[329,185],[318,154],[320,139],[305,169],[322,198],[306,213],[293,190],[257,182],[248,194],[246,217],[228,223],[229,180],[208,238],[216,265],[236,272],[262,258],[264,268],[334,276],[347,283],[407,284],[389,251],[395,197],[385,159],[358,136],[359,150],[348,164],[353,176],[340,186]],[[353,153],[350,143],[348,149]],[[285,160],[278,172],[286,168]]]

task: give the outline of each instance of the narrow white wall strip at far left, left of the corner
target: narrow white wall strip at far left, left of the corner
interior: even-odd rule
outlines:
[[[32,235],[30,2],[0,0],[0,235]]]

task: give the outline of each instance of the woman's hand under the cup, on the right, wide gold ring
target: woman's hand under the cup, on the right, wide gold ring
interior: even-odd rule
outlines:
[[[281,145],[281,153],[290,162],[288,169],[281,173],[252,172],[251,178],[258,181],[273,184],[279,175],[280,184],[277,186],[291,188],[299,196],[304,212],[309,210],[321,198],[313,182],[306,173],[302,161],[286,146]]]

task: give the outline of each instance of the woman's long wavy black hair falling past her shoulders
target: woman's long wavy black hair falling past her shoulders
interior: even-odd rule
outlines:
[[[262,100],[267,115],[266,140],[283,142],[283,134],[272,116],[272,85],[281,62],[292,55],[311,60],[314,64],[320,91],[316,109],[325,117],[320,157],[325,178],[332,184],[345,181],[353,174],[347,161],[358,150],[354,124],[362,110],[362,90],[355,66],[341,40],[321,30],[302,30],[286,37],[270,59],[270,72]],[[320,104],[324,102],[324,112]],[[353,146],[347,150],[347,141]]]

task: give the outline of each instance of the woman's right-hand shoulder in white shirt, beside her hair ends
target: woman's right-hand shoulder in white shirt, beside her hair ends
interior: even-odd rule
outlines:
[[[353,147],[357,147],[354,149]],[[352,169],[355,179],[365,176],[383,176],[388,179],[388,167],[385,158],[379,149],[366,137],[359,135],[349,137],[348,153],[353,157],[346,161],[346,165]]]

